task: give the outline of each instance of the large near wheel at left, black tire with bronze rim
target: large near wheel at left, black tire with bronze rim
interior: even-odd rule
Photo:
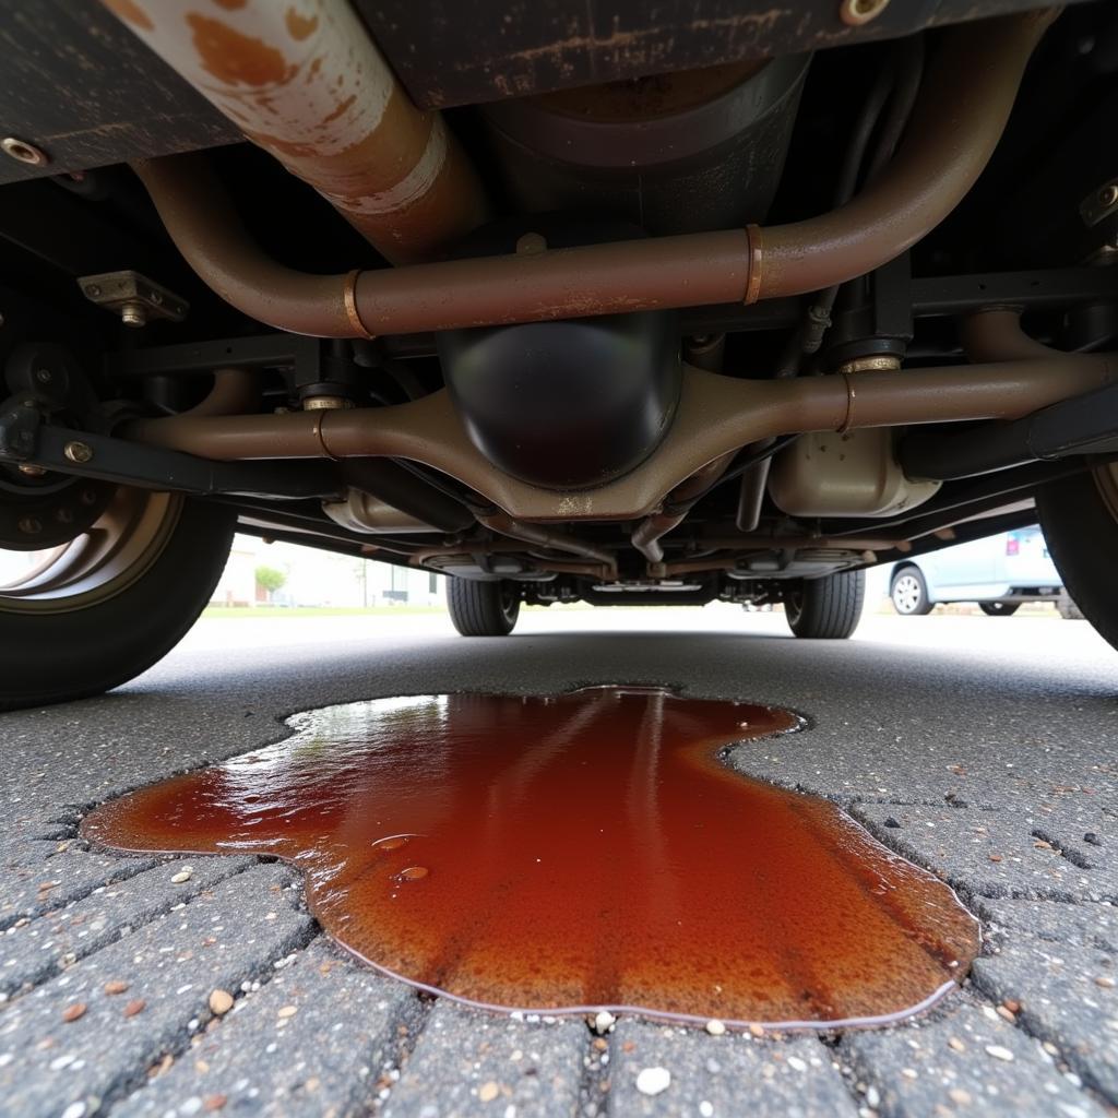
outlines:
[[[78,485],[74,506],[92,492]],[[0,505],[0,529],[18,510]],[[151,667],[209,601],[234,525],[220,505],[121,486],[72,539],[6,549],[27,561],[9,553],[0,578],[0,710],[100,694]]]

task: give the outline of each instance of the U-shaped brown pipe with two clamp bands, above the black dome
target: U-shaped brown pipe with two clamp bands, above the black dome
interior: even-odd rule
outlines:
[[[356,338],[751,303],[864,275],[934,229],[989,160],[1054,16],[1029,11],[950,29],[888,168],[847,205],[768,229],[306,276],[264,257],[219,192],[197,197],[197,157],[135,170],[198,274],[245,314],[283,330]]]

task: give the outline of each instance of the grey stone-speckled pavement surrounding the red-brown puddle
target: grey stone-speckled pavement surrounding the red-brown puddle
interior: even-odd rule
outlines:
[[[807,732],[732,764],[834,799],[948,881],[985,935],[964,988],[883,1030],[714,1036],[623,1018],[598,1035],[362,968],[283,864],[76,837],[94,804],[276,740],[300,710],[614,682],[807,714]],[[811,644],[729,607],[533,612],[491,641],[438,616],[211,620],[111,695],[0,716],[0,741],[6,1115],[1118,1108],[1118,653],[1086,623],[871,616],[854,641]],[[220,1015],[215,989],[235,997]],[[670,1072],[660,1093],[637,1089],[648,1068]]]

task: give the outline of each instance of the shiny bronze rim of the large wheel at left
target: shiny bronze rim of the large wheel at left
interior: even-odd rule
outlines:
[[[23,552],[26,568],[0,578],[0,613],[70,613],[120,594],[163,552],[182,508],[179,494],[119,489],[94,524],[68,543]]]

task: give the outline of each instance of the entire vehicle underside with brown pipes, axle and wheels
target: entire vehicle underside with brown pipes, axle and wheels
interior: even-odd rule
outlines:
[[[1039,517],[1118,644],[1114,6],[0,7],[0,703],[142,671],[235,528],[470,633],[834,637]]]

